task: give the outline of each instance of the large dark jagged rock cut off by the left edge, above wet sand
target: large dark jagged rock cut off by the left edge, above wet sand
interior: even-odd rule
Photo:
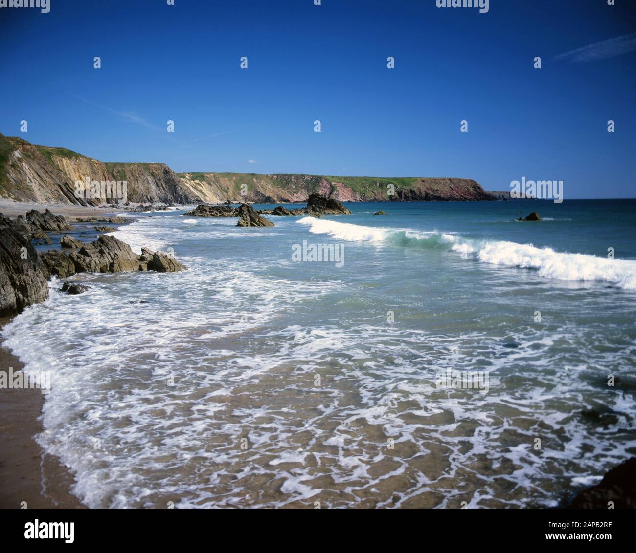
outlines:
[[[48,298],[46,269],[20,223],[0,213],[0,316]]]

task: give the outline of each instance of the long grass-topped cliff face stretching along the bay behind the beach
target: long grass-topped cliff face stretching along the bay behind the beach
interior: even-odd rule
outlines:
[[[0,135],[0,197],[98,205],[106,195],[75,197],[75,182],[127,181],[127,199],[144,204],[304,203],[319,193],[339,201],[476,201],[495,199],[465,178],[377,178],[245,173],[174,173],[163,163],[104,163],[66,148]]]

